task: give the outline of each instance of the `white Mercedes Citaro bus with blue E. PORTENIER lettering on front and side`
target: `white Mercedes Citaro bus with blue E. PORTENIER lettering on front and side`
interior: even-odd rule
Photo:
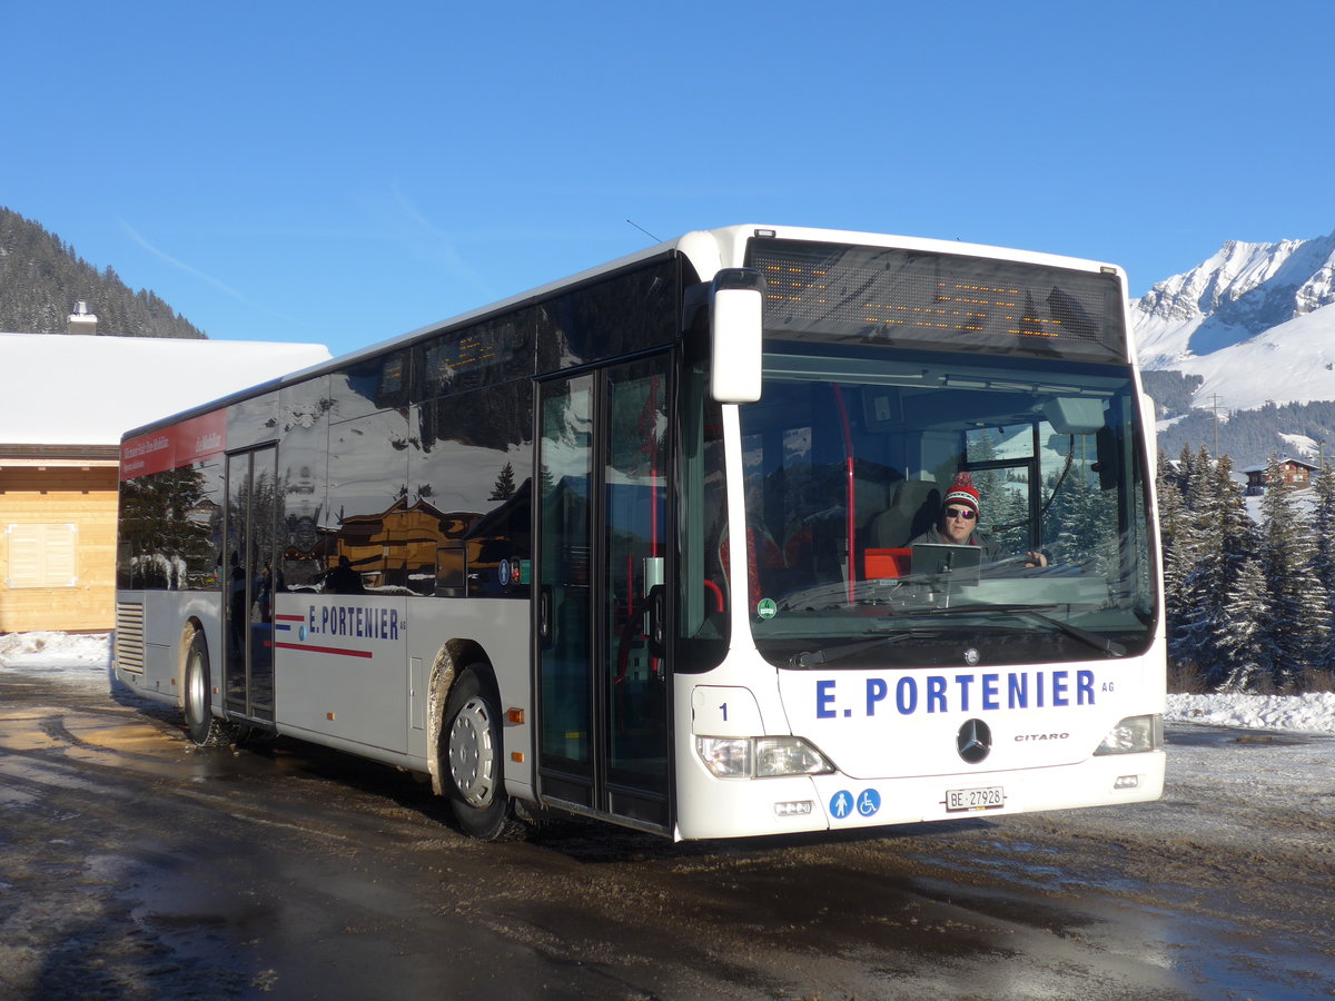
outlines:
[[[482,840],[1151,801],[1151,407],[1117,267],[690,232],[127,432],[115,674]]]

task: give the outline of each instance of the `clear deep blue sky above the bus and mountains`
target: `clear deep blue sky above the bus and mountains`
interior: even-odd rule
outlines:
[[[403,334],[732,223],[1123,264],[1335,231],[1335,4],[0,7],[0,206],[211,338]]]

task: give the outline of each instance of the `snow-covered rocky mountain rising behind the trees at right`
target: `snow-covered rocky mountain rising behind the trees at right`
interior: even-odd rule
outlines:
[[[1230,240],[1131,304],[1144,368],[1200,375],[1196,404],[1335,400],[1335,234]]]

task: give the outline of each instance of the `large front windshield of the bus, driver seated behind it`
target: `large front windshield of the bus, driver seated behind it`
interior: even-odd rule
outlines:
[[[740,408],[748,601],[770,663],[1144,653],[1157,609],[1128,366],[770,347],[761,400]],[[939,531],[959,482],[980,498],[963,546]]]

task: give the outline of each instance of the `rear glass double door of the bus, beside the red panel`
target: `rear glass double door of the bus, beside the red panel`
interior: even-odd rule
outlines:
[[[274,718],[275,446],[227,456],[223,682],[227,711]]]

